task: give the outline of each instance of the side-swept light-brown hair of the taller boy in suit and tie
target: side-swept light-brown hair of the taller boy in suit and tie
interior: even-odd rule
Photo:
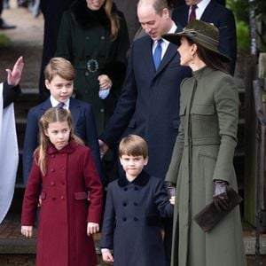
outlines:
[[[51,82],[56,75],[66,81],[74,81],[74,66],[66,59],[52,58],[44,69],[44,78]]]

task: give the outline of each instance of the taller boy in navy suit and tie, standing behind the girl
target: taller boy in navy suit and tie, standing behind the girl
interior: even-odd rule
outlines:
[[[53,58],[44,69],[45,86],[50,90],[50,98],[38,106],[31,108],[27,114],[27,127],[23,146],[23,180],[27,184],[35,148],[38,145],[38,122],[45,111],[54,106],[68,109],[74,119],[74,130],[86,145],[90,147],[98,174],[104,183],[101,171],[98,132],[91,106],[75,98],[71,98],[74,90],[74,67],[63,58]]]

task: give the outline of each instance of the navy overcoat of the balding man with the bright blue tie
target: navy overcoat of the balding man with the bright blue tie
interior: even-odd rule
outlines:
[[[169,43],[156,71],[152,46],[149,35],[132,44],[121,97],[100,139],[113,146],[129,134],[144,137],[149,145],[145,169],[164,178],[179,127],[179,86],[191,70],[180,66],[177,47]]]

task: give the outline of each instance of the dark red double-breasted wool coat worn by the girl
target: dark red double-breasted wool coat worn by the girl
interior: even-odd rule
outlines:
[[[36,265],[95,266],[87,223],[100,222],[102,185],[90,149],[70,142],[59,151],[51,145],[47,153],[45,176],[33,163],[21,215],[22,225],[34,224],[41,193]]]

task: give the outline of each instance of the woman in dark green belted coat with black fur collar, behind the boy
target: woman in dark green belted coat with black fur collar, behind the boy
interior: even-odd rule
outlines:
[[[76,0],[63,13],[56,56],[74,65],[76,98],[92,106],[99,135],[120,95],[128,50],[127,23],[112,0]],[[114,161],[114,151],[103,158],[107,180],[117,176]]]

